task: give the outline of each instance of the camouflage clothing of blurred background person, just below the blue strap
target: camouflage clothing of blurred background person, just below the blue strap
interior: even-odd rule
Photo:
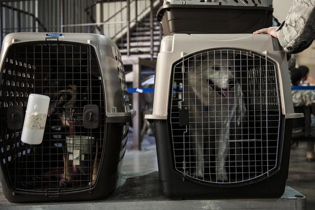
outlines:
[[[315,100],[315,91],[292,90],[292,99],[294,107],[309,106]]]

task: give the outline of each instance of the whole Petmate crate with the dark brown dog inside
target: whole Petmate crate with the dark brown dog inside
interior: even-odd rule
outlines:
[[[97,199],[114,190],[132,118],[120,57],[112,40],[96,34],[6,36],[0,160],[9,201]],[[32,93],[50,97],[38,145],[21,141]]]

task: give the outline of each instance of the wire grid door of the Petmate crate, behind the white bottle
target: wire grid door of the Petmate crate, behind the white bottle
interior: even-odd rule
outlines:
[[[0,89],[1,164],[13,188],[66,192],[93,187],[91,182],[99,169],[93,168],[96,161],[100,162],[106,118],[94,48],[71,42],[14,44],[6,55]],[[48,95],[51,99],[43,143],[33,146],[21,142],[22,130],[8,129],[6,120],[9,106],[21,106],[25,112],[31,93]],[[100,126],[93,130],[83,127],[83,108],[87,104],[99,108]],[[73,115],[70,109],[74,110]],[[80,138],[79,154],[74,154],[75,146],[66,143],[66,136],[75,135]],[[82,136],[88,136],[88,140]],[[60,180],[64,177],[71,180],[62,185]]]

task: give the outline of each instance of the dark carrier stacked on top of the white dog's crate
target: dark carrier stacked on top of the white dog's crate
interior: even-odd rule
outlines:
[[[252,33],[272,26],[272,0],[165,0],[157,19],[165,35]]]

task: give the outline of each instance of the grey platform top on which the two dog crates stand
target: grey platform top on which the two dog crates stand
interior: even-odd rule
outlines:
[[[53,203],[9,203],[0,188],[0,208],[2,210],[32,209],[278,209],[304,210],[306,197],[291,187],[286,187],[281,198],[269,199],[211,199],[211,200],[170,200],[162,192],[158,171],[141,174],[124,174],[117,189],[105,200]]]

